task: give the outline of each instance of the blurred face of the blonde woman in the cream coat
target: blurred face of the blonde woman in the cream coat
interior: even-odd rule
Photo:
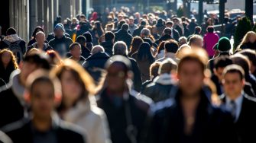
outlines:
[[[82,94],[82,87],[78,81],[73,77],[71,71],[63,71],[60,77],[60,82],[63,90],[64,103],[73,104]]]

